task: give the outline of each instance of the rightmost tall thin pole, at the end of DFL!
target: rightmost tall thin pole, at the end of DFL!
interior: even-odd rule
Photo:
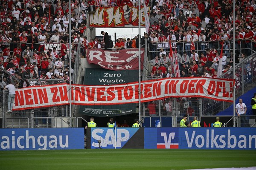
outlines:
[[[235,30],[236,30],[236,25],[235,25],[235,21],[236,21],[236,10],[235,10],[235,5],[236,2],[235,0],[233,0],[233,80],[234,80],[234,85],[233,85],[233,116],[236,116],[236,86],[235,86],[235,79],[236,79],[236,69],[235,69],[235,65],[236,65],[236,55],[235,55]],[[231,90],[231,89],[230,89]],[[236,119],[235,117],[233,118],[233,127],[236,127]]]

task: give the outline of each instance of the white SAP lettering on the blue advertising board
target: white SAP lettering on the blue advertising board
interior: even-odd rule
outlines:
[[[115,130],[113,128],[96,128],[92,130],[91,133],[92,136],[92,146],[93,147],[99,147],[98,140],[101,140],[101,147],[107,147],[109,145],[112,145],[113,147],[122,147],[122,144],[127,142],[130,138],[130,133],[126,129],[116,129],[116,135]]]

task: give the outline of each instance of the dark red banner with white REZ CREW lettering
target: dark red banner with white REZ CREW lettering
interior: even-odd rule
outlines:
[[[140,51],[141,68],[143,68],[144,48]],[[102,49],[88,49],[87,61],[100,65],[109,70],[138,70],[139,69],[139,49],[130,48],[118,51],[108,51]]]

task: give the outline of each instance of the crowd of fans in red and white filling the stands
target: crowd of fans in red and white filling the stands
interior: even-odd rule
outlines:
[[[143,2],[143,1],[142,1]],[[223,46],[224,72],[232,62],[239,62],[256,48],[256,4],[254,0],[236,1],[236,51],[230,54],[233,39],[233,11],[231,0],[149,0],[151,7],[149,31],[141,38],[148,44],[152,77],[174,77],[172,61],[166,49],[157,49],[157,42],[172,42],[177,49],[181,77],[216,77],[220,49]],[[142,3],[143,4],[143,3]],[[24,83],[31,79],[64,79],[69,82],[69,71],[64,67],[68,60],[67,42],[72,37],[72,65],[76,58],[76,44],[81,42],[81,54],[88,48],[104,48],[105,42],[98,38],[87,40],[83,36],[87,29],[89,6],[137,6],[137,0],[73,0],[71,23],[68,18],[68,2],[48,0],[1,1],[0,7],[0,67]],[[71,26],[71,33],[68,29]],[[119,38],[110,48],[138,48],[138,37]],[[56,48],[44,51],[44,43],[59,43]],[[111,41],[112,42],[112,41]],[[194,45],[193,45],[194,42]],[[195,49],[192,51],[192,49]],[[167,49],[168,50],[168,49]],[[228,58],[228,59],[227,59]],[[229,62],[227,62],[227,60]],[[1,70],[0,70],[1,71]],[[0,77],[2,78],[2,77]],[[31,81],[32,82],[32,81]],[[3,87],[3,86],[2,86]]]

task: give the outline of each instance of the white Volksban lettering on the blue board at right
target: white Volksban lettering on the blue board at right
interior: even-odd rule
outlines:
[[[256,148],[256,135],[249,134],[231,134],[231,130],[223,130],[222,133],[220,130],[206,130],[206,134],[202,131],[198,131],[196,135],[196,130],[192,131],[185,130],[186,144],[188,148]],[[218,135],[217,135],[218,134]]]

